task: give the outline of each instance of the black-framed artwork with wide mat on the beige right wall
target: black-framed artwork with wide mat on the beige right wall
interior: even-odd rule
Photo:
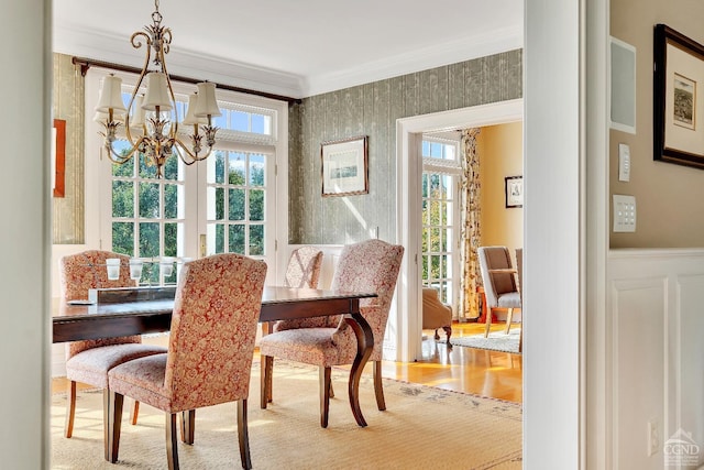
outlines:
[[[704,168],[704,46],[657,24],[654,67],[653,159]]]

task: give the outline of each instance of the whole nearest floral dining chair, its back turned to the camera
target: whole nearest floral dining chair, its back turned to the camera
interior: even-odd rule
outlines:
[[[124,396],[166,413],[169,469],[178,469],[176,415],[182,439],[194,444],[196,408],[238,402],[238,436],[243,468],[252,468],[246,401],[262,307],[266,263],[223,253],[184,265],[172,317],[168,352],[110,370],[110,456],[118,460]]]

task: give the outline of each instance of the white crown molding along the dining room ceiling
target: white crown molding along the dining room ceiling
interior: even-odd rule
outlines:
[[[507,28],[483,36],[466,36],[433,44],[345,70],[304,77],[172,45],[168,72],[241,88],[305,98],[521,47],[522,28]],[[144,62],[143,52],[134,50],[124,36],[75,25],[66,28],[57,24],[54,28],[54,52],[139,68]]]

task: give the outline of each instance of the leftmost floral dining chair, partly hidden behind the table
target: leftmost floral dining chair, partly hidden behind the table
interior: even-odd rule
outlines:
[[[120,277],[108,280],[106,260],[120,260]],[[130,256],[103,250],[88,250],[63,256],[59,261],[62,302],[87,299],[90,288],[134,287],[130,278]],[[76,382],[102,389],[107,393],[108,371],[122,362],[144,356],[158,354],[166,348],[143,345],[142,337],[128,336],[108,339],[74,341],[66,345],[66,379],[68,380],[64,436],[74,433],[76,415]],[[107,413],[107,409],[103,411]],[[139,402],[134,403],[132,424],[136,423]]]

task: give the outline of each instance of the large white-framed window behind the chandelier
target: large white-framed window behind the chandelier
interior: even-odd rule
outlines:
[[[92,74],[92,75],[91,75]],[[86,85],[86,113],[92,116],[98,87],[105,70],[89,70]],[[122,75],[123,101],[129,103],[135,77]],[[89,85],[94,84],[95,85]],[[190,87],[174,84],[178,116],[185,116]],[[265,260],[268,276],[276,275],[276,240],[287,237],[286,168],[287,103],[218,90],[222,116],[217,145],[210,156],[185,165],[174,155],[156,178],[156,168],[135,155],[123,165],[110,164],[98,134],[100,124],[87,122],[87,173],[97,167],[100,187],[99,245],[141,258],[145,263],[142,283],[172,283],[160,273],[156,261],[163,256],[199,258],[235,252]],[[95,131],[95,133],[94,133]],[[94,134],[94,135],[91,135]],[[123,135],[124,136],[124,135]],[[184,138],[188,142],[188,138]],[[116,145],[128,152],[127,139]],[[95,152],[89,150],[95,149]],[[100,150],[98,150],[100,149]],[[277,164],[277,160],[279,164]],[[99,161],[98,163],[96,163]],[[280,186],[280,187],[279,187]],[[88,204],[87,204],[88,206]],[[283,211],[277,216],[277,210]],[[87,207],[87,220],[90,220]]]

